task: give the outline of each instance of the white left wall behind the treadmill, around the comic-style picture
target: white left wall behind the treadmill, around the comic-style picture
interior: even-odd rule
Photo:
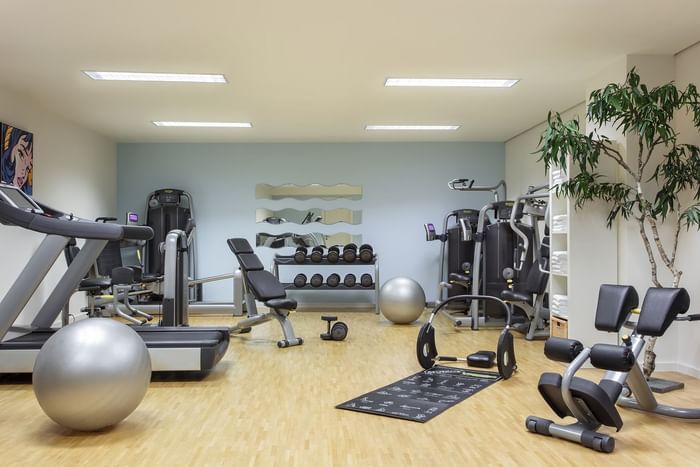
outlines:
[[[0,122],[34,134],[33,196],[80,217],[116,211],[116,144],[42,108],[30,99],[0,88]],[[0,225],[0,297],[11,287],[43,235]],[[20,318],[27,323],[52,290],[65,264],[56,262]],[[72,307],[82,306],[77,297]]]

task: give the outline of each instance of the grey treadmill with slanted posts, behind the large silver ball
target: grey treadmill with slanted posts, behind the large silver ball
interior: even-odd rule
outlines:
[[[42,345],[57,331],[51,326],[107,242],[153,236],[150,227],[97,223],[52,209],[6,183],[0,183],[0,223],[46,234],[0,301],[0,373],[32,372]],[[13,326],[72,238],[85,240],[80,253],[31,324]],[[229,344],[228,327],[131,328],[148,347],[153,371],[159,372],[208,371],[221,360]]]

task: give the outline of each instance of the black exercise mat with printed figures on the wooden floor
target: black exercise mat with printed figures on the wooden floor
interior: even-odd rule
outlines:
[[[501,379],[490,371],[434,366],[336,408],[425,423]]]

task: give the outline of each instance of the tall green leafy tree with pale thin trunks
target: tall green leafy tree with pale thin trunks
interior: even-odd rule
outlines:
[[[681,228],[700,229],[700,149],[681,144],[673,128],[674,116],[683,111],[700,129],[700,97],[693,84],[679,89],[671,82],[649,89],[632,69],[623,84],[593,91],[586,111],[596,128],[612,126],[626,137],[626,153],[597,131],[582,133],[577,119],[564,121],[551,112],[536,151],[547,169],[570,170],[568,180],[553,187],[557,196],[571,198],[577,209],[594,200],[608,203],[608,227],[618,218],[636,223],[656,287],[663,286],[657,274],[659,261],[673,278],[668,285],[679,286]],[[617,164],[621,180],[599,172],[601,158]],[[665,222],[672,224],[670,239],[660,234]],[[655,341],[651,339],[645,354],[647,377],[654,371]]]

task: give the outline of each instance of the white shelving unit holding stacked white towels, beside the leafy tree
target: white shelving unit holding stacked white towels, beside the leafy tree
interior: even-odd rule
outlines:
[[[612,164],[601,161],[603,173],[616,173]],[[570,174],[570,166],[566,171],[552,168],[550,187]],[[600,285],[617,283],[617,226],[606,227],[604,203],[587,203],[577,210],[574,201],[554,191],[549,199],[551,333],[586,345],[615,343],[616,336],[596,331],[595,311]]]

